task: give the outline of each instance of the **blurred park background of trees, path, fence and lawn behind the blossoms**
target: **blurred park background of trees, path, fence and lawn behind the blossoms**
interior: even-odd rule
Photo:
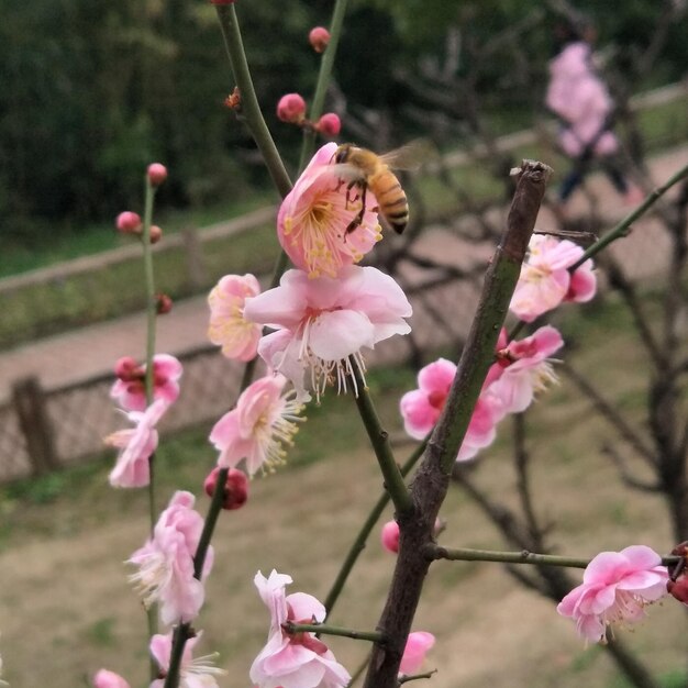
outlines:
[[[293,175],[301,133],[277,120],[275,106],[286,92],[312,96],[320,57],[308,32],[329,24],[332,3],[240,1],[236,10],[264,114]],[[398,398],[420,365],[460,349],[503,226],[509,170],[523,157],[554,167],[539,219],[545,231],[578,232],[584,242],[632,209],[595,160],[565,208],[557,197],[577,164],[559,149],[561,124],[545,106],[562,26],[580,35],[595,29],[591,62],[612,103],[617,159],[647,192],[688,162],[687,14],[681,0],[349,2],[325,107],[342,119],[339,141],[381,153],[423,138],[439,151],[402,177],[410,225],[371,258],[414,306],[413,334],[369,359],[370,387],[400,455],[412,446],[401,436]],[[241,375],[207,341],[206,295],[224,274],[269,274],[279,198],[241,114],[223,104],[234,82],[204,0],[9,0],[0,81],[0,618],[12,620],[0,624],[5,676],[13,685],[66,688],[106,663],[143,676],[143,618],[120,562],[145,535],[144,496],[107,488],[112,454],[101,451],[102,436],[122,424],[108,400],[114,360],[140,357],[145,346],[140,247],[116,234],[113,218],[142,211],[143,170],[164,163],[157,288],[175,306],[159,319],[158,351],[177,355],[185,377],[166,419],[160,491],[198,492],[214,460],[208,429],[231,408]],[[548,406],[529,412],[532,475],[513,454],[515,430],[507,429],[475,473],[457,476],[443,514],[455,519],[452,544],[548,550],[552,524],[553,542],[565,537],[563,550],[580,555],[596,545],[621,548],[629,531],[657,551],[688,537],[681,498],[654,485],[654,464],[645,460],[656,455],[659,466],[668,455],[657,382],[674,376],[669,396],[685,400],[686,204],[684,186],[600,260],[596,301],[555,317],[567,356],[575,354],[587,377],[578,368],[562,374]],[[659,365],[667,356],[675,367]],[[309,409],[285,475],[255,480],[255,503],[221,526],[224,563],[213,574],[204,624],[206,650],[222,651],[232,672],[228,686],[246,685],[265,631],[252,597],[256,568],[281,567],[295,589],[323,597],[380,489],[353,404],[333,397]],[[684,409],[673,408],[683,432]],[[619,450],[629,431],[637,433],[630,444],[640,458]],[[331,464],[321,460],[323,446]],[[542,497],[543,523],[529,521],[528,491],[517,499],[504,490],[529,480]],[[268,499],[279,508],[262,509]],[[590,537],[600,521],[609,530]],[[304,548],[304,536],[315,544]],[[337,623],[375,623],[393,562],[376,543],[365,556]],[[512,574],[474,564],[434,574],[419,617],[443,639],[434,685],[686,685],[674,608],[669,621],[655,613],[659,622],[632,642],[654,676],[637,683],[622,650],[584,653],[568,622],[555,618],[552,599],[566,581]],[[468,593],[448,596],[459,582]],[[228,630],[220,599],[229,587],[245,600]],[[32,635],[41,639],[42,662],[26,642]],[[346,645],[340,653],[351,670],[364,657]]]

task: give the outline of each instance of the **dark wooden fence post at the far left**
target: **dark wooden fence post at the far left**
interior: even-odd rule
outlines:
[[[44,475],[59,466],[54,432],[45,408],[45,395],[38,378],[30,376],[12,385],[12,399],[19,426],[26,440],[33,474]]]

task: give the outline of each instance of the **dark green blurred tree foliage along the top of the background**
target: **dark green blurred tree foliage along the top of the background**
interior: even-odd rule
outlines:
[[[599,22],[602,43],[619,46],[622,66],[646,48],[647,26],[663,12],[651,0],[626,3],[623,12],[580,4]],[[314,0],[241,7],[246,35],[278,38],[269,51],[255,38],[246,48],[268,124],[281,127],[291,160],[298,135],[276,122],[270,103],[288,91],[310,96],[318,60],[306,36],[328,22],[328,9]],[[485,58],[474,52],[529,16],[522,3],[359,0],[335,69],[347,110],[395,111],[401,127],[396,137],[417,135],[418,122],[404,120],[400,107],[410,100],[409,79],[419,78],[422,65],[445,64],[454,30],[457,74],[477,60],[476,87],[492,109],[539,102],[554,15],[536,14],[537,23],[514,38],[534,65],[523,71],[504,69],[509,41]],[[686,49],[677,23],[652,80],[680,76]],[[112,217],[135,198],[140,169],[151,159],[175,170],[160,192],[163,206],[238,199],[260,185],[254,145],[222,106],[234,86],[224,59],[206,0],[11,0],[0,26],[0,221],[9,242],[35,246],[48,233]],[[525,82],[536,87],[523,89]],[[248,174],[246,163],[253,164]]]

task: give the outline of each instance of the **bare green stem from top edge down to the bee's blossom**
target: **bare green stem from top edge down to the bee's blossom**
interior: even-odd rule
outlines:
[[[220,20],[224,47],[226,48],[234,79],[236,80],[236,86],[241,95],[242,114],[260,151],[260,155],[273,177],[273,181],[280,196],[284,198],[291,191],[291,179],[289,179],[289,175],[285,169],[277,146],[273,141],[273,136],[260,112],[256,89],[253,86],[251,70],[246,62],[246,53],[244,52],[244,43],[238,27],[236,10],[233,3],[215,4],[215,10],[218,11],[218,19]]]

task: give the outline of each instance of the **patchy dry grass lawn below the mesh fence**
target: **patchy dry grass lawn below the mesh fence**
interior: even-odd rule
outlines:
[[[650,304],[654,312],[654,297]],[[578,367],[611,399],[643,389],[647,378],[643,349],[617,300],[566,309],[558,324],[585,344],[575,352]],[[563,357],[568,356],[567,347]],[[391,432],[401,425],[399,396],[414,386],[414,377],[413,371],[398,366],[369,373],[369,389]],[[309,407],[307,415],[288,465],[253,480],[246,508],[223,513],[214,537],[215,570],[209,579],[209,603],[199,628],[204,630],[204,651],[221,652],[221,664],[233,677],[231,685],[241,684],[265,637],[266,617],[252,585],[255,572],[266,573],[268,566],[275,566],[293,575],[293,590],[322,596],[381,488],[351,397],[337,397],[329,389],[322,404]],[[163,439],[156,471],[160,503],[173,490],[189,489],[198,496],[199,510],[204,511],[207,500],[200,485],[215,459],[207,442],[208,431],[206,425]],[[657,548],[666,544],[658,498],[622,490],[613,467],[600,455],[599,445],[610,434],[613,436],[565,379],[529,411],[536,509],[552,523],[552,542],[558,543],[562,552],[585,555],[617,548],[617,543],[624,546],[641,536]],[[403,460],[409,451],[400,447],[398,458]],[[107,475],[112,460],[110,452],[38,480],[0,488],[0,556],[7,572],[5,607],[13,619],[3,632],[3,657],[7,677],[14,685],[43,685],[46,679],[37,681],[36,672],[53,672],[55,688],[67,688],[78,684],[75,677],[80,673],[92,674],[99,666],[120,670],[132,685],[143,685],[143,680],[133,680],[145,670],[143,614],[126,585],[127,569],[120,562],[147,533],[146,493],[110,489]],[[508,421],[471,475],[492,499],[513,504]],[[390,513],[391,509],[385,518]],[[500,547],[495,529],[457,488],[451,489],[441,515],[448,521],[444,544]],[[99,545],[108,562],[103,562]],[[85,562],[85,566],[70,567],[71,561]],[[335,610],[336,623],[373,628],[392,566],[393,558],[371,539]],[[111,569],[114,573],[109,574]],[[99,587],[108,575],[109,587]],[[70,576],[78,593],[65,596],[68,609],[63,609],[60,599],[56,603],[41,599],[46,581],[51,588],[64,586]],[[95,598],[96,593],[100,597]],[[520,606],[513,602],[518,596]],[[46,636],[42,637],[42,663],[25,656],[26,629],[37,624],[32,612],[41,614],[36,633]],[[672,612],[675,617],[668,615]],[[668,600],[650,610],[647,622],[635,634],[619,630],[643,662],[662,676],[665,688],[684,685],[683,670],[668,672],[683,666],[685,626],[678,613],[678,604]],[[655,625],[648,628],[652,622]],[[584,651],[573,624],[562,624],[554,604],[519,589],[500,567],[437,563],[425,581],[415,628],[437,635],[437,654],[431,655],[431,662],[439,657],[441,686],[626,686],[614,678],[618,669],[603,650]],[[477,637],[482,644],[470,645]],[[545,643],[546,650],[540,643]],[[342,643],[336,653],[353,668],[365,650]],[[55,672],[55,663],[65,663],[65,658],[71,661]],[[468,664],[474,672],[466,672],[468,679],[460,680],[457,674]]]

